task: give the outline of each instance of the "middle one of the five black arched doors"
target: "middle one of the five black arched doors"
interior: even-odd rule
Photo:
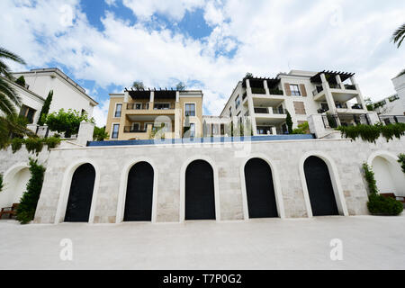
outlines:
[[[214,175],[203,160],[185,170],[185,220],[215,220]]]

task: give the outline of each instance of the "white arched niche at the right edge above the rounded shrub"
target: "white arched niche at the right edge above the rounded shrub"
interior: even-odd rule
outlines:
[[[372,166],[380,193],[405,196],[405,175],[396,159],[377,156],[374,157]]]

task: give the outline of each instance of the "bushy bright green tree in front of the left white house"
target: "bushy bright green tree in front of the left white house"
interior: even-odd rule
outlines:
[[[94,119],[89,119],[87,113],[82,114],[72,109],[67,110],[67,112],[60,109],[58,112],[48,114],[44,119],[44,123],[48,125],[49,130],[58,131],[58,133],[64,132],[65,138],[77,134],[82,121],[94,123]]]

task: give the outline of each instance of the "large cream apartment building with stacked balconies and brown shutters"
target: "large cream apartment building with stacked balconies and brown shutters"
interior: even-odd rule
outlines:
[[[275,78],[245,77],[220,117],[229,117],[233,123],[249,117],[256,136],[288,133],[287,111],[296,128],[317,113],[329,113],[337,125],[351,125],[364,121],[365,108],[354,73],[292,70]]]

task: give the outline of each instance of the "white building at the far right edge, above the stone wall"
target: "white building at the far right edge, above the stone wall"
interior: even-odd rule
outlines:
[[[374,104],[375,112],[381,115],[390,116],[404,116],[405,115],[405,74],[396,76],[392,79],[396,94],[392,94],[390,97],[384,98]],[[401,119],[405,117],[400,117]],[[384,118],[386,119],[390,118]]]

